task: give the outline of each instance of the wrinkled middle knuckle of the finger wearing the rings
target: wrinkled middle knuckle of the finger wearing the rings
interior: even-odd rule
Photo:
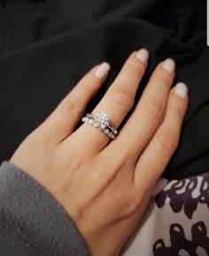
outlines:
[[[118,92],[112,93],[112,108],[120,111],[123,114],[127,114],[128,110],[132,108],[134,104],[134,97],[130,92],[120,89]]]

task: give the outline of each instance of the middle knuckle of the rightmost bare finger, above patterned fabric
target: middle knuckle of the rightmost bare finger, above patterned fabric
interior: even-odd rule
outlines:
[[[172,131],[161,132],[159,134],[160,148],[170,156],[174,154],[175,149],[178,147],[178,136]]]

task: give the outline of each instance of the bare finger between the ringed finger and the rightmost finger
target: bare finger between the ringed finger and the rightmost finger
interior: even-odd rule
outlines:
[[[121,129],[116,143],[110,145],[113,150],[123,148],[127,152],[124,154],[130,155],[133,161],[137,160],[165,117],[167,98],[174,81],[174,68],[174,60],[168,59],[155,69],[135,111]]]

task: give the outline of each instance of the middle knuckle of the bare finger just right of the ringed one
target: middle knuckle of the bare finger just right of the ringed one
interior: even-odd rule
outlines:
[[[160,124],[164,117],[165,109],[156,100],[148,100],[148,104],[144,107],[147,116],[157,124]]]

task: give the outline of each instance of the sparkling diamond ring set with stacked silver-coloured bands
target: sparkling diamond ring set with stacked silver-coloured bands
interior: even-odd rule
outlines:
[[[118,134],[118,131],[110,124],[110,117],[104,113],[99,113],[97,115],[87,114],[82,117],[82,122],[92,124],[112,140],[114,140]]]

